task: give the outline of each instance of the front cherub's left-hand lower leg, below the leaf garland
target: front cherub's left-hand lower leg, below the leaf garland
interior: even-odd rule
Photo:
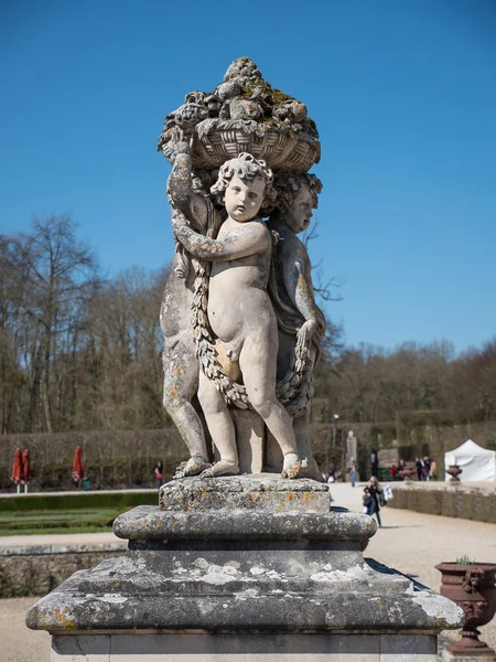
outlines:
[[[223,395],[214,382],[200,372],[198,399],[212,439],[220,455],[220,460],[202,473],[203,478],[234,476],[239,473],[236,431]]]

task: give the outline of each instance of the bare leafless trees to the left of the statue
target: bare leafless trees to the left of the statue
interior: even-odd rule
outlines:
[[[69,217],[1,235],[1,433],[162,427],[165,275],[104,278]]]

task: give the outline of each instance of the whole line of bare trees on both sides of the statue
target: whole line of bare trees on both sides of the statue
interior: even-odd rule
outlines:
[[[0,235],[0,431],[161,428],[159,310],[168,267],[105,278],[69,217]],[[326,287],[321,296],[331,299]],[[347,346],[328,323],[316,396],[342,420],[443,412],[496,419],[496,337],[456,355],[449,341]]]

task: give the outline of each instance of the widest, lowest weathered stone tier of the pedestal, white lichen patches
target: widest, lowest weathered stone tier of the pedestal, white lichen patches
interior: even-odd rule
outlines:
[[[170,560],[175,563],[173,555]],[[375,576],[366,564],[346,572],[325,564],[313,579],[299,580],[267,566],[259,568],[260,575],[240,572],[237,563],[236,554],[229,565],[206,559],[202,564],[197,558],[194,576],[179,562],[163,576],[147,570],[139,556],[104,562],[40,600],[29,611],[26,624],[58,633],[131,629],[435,633],[460,622],[460,610],[445,598],[429,590],[405,590],[405,577]]]

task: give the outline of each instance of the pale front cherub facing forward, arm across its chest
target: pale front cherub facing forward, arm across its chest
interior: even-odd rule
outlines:
[[[169,188],[173,203],[186,218],[204,213],[202,202],[184,188],[191,179],[188,168],[188,153],[176,158],[174,169],[179,178],[173,179],[172,185],[170,181]],[[276,397],[278,325],[266,291],[272,238],[257,217],[271,182],[272,172],[265,161],[248,153],[239,154],[224,163],[217,183],[211,189],[224,197],[227,212],[217,238],[196,233],[182,215],[175,216],[174,232],[190,254],[212,263],[207,314],[218,338],[217,351],[239,370],[251,406],[278,441],[283,455],[282,476],[295,478],[301,465],[292,420]],[[180,194],[176,196],[175,192]],[[203,371],[198,399],[220,455],[220,460],[202,476],[238,473],[235,427],[227,404]]]

